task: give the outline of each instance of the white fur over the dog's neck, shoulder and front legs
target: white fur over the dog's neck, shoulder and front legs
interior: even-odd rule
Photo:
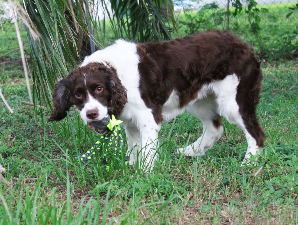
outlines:
[[[157,158],[156,148],[161,126],[156,124],[151,109],[146,107],[141,98],[138,70],[139,55],[136,52],[136,44],[117,40],[107,48],[86,57],[81,66],[86,66],[91,62],[99,62],[116,69],[119,80],[127,89],[128,103],[124,106],[120,120],[123,120],[122,125],[125,128],[129,150],[133,149],[130,155],[130,163],[134,164],[137,160],[142,159],[142,170],[149,171]],[[92,104],[95,103],[90,101],[90,105]],[[100,109],[100,107],[97,106],[101,115],[102,110],[106,110],[106,108]],[[86,117],[82,117],[82,119],[86,120]]]

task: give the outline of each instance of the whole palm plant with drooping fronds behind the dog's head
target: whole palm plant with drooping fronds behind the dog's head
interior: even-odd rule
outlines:
[[[94,15],[93,9],[102,7],[105,15],[101,21]],[[64,77],[69,70],[77,66],[86,52],[92,34],[92,25],[100,35],[106,34],[106,27],[111,27],[114,39],[125,38],[133,41],[156,41],[170,39],[170,29],[165,21],[175,25],[173,2],[170,0],[27,0],[27,13],[41,35],[34,40],[30,32],[28,39],[33,64],[33,91],[39,103],[46,103],[51,108],[51,93],[59,77]],[[169,23],[167,23],[169,24]],[[90,35],[91,36],[91,35]],[[84,42],[85,37],[85,42]],[[105,46],[105,43],[100,43]],[[88,48],[88,47],[87,47]],[[36,101],[36,100],[35,100]]]

